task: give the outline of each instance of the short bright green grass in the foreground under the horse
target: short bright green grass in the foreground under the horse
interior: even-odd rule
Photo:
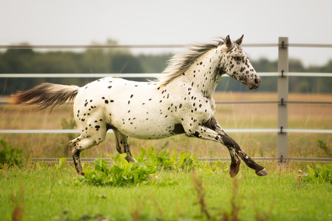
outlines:
[[[244,164],[240,168],[236,204],[242,207],[241,220],[255,220],[255,209],[267,212],[273,202],[270,220],[331,220],[332,185],[304,181],[298,185],[298,169],[307,173],[307,164],[290,163],[281,170],[276,163],[262,164],[269,171],[266,177],[256,176]],[[207,207],[214,215],[231,209],[233,180],[227,166],[222,163],[214,173],[197,171],[206,189]],[[23,200],[19,204],[25,211],[23,220],[76,220],[83,214],[100,214],[113,220],[137,220],[133,214],[138,214],[139,220],[206,220],[197,204],[191,173],[157,171],[160,180],[177,180],[177,186],[96,187],[76,186],[72,163],[59,171],[56,167],[28,163],[22,168],[0,170],[0,219],[11,220],[12,194],[19,195],[22,187]],[[66,215],[62,216],[64,211]]]

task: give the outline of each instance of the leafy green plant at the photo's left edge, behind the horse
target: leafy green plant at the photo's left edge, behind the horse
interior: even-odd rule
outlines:
[[[23,157],[21,156],[22,150],[8,145],[4,139],[1,139],[0,143],[2,145],[2,149],[0,150],[0,168],[4,164],[8,166],[21,165],[23,162]]]

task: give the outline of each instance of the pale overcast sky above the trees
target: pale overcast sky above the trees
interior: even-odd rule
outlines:
[[[0,44],[189,44],[230,35],[243,43],[332,44],[332,1],[0,0]],[[277,59],[276,47],[247,47],[251,59]],[[134,53],[180,52],[134,50]],[[289,49],[305,66],[332,59],[332,48]]]

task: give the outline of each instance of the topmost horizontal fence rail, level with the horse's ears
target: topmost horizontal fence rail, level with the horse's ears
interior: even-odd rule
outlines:
[[[101,45],[0,45],[2,49],[98,49],[98,48],[182,48],[191,44],[101,44]],[[302,43],[251,43],[242,44],[242,47],[332,47],[332,44],[302,44]]]

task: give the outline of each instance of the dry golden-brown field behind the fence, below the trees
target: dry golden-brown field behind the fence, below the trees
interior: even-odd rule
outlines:
[[[277,100],[276,93],[216,92],[216,101]],[[6,99],[6,98],[4,98]],[[4,100],[3,99],[3,100]],[[332,101],[331,94],[290,94],[289,100]],[[0,130],[3,129],[62,129],[62,119],[73,119],[73,107],[61,106],[37,111],[36,107],[0,106]],[[277,128],[277,105],[217,105],[216,118],[224,129]],[[332,105],[289,105],[289,128],[332,129]],[[242,149],[253,157],[276,156],[277,135],[274,133],[229,133]],[[67,142],[77,134],[0,134],[9,144],[21,148],[30,157],[70,156]],[[331,157],[319,148],[318,140],[332,146],[331,134],[289,134],[290,157]],[[229,157],[218,143],[177,135],[161,140],[130,139],[133,154],[139,147],[170,148],[192,152],[197,157]],[[98,146],[82,152],[82,157],[106,157],[115,154],[113,134]],[[331,152],[330,152],[331,153]]]

